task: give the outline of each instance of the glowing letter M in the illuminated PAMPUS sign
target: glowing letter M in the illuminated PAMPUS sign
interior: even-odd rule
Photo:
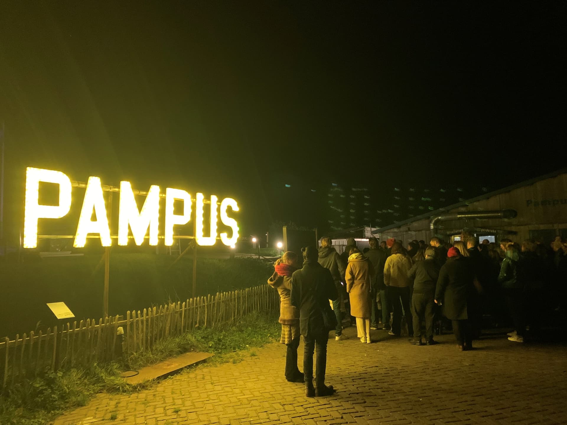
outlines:
[[[158,244],[159,225],[159,186],[151,185],[138,212],[132,185],[128,181],[120,182],[120,211],[118,216],[118,244],[128,245],[128,226],[132,230],[134,242],[141,245],[148,227],[150,228],[150,245]]]

